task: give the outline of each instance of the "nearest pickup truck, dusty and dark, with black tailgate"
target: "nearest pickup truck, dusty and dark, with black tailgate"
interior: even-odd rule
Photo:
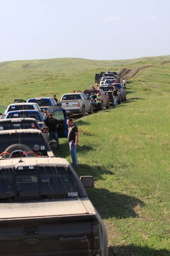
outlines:
[[[0,255],[108,256],[104,221],[59,157],[0,160]]]

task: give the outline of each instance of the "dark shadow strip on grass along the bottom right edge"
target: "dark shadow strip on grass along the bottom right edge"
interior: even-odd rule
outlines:
[[[155,250],[147,246],[123,245],[109,246],[108,256],[170,256],[170,251],[165,249]]]

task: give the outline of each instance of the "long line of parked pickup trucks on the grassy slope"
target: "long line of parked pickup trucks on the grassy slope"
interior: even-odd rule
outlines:
[[[108,256],[105,224],[84,189],[94,186],[93,177],[79,178],[44,136],[48,113],[59,121],[59,137],[68,135],[67,115],[93,113],[91,92],[102,97],[102,109],[110,108],[102,88],[66,93],[60,102],[16,99],[0,106],[1,256]]]

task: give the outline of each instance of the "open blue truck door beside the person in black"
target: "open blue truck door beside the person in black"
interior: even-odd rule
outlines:
[[[65,113],[65,109],[57,109],[51,112],[53,117],[56,118],[59,122],[58,126],[58,137],[59,138],[67,138],[68,137],[68,125],[67,125],[67,117]]]

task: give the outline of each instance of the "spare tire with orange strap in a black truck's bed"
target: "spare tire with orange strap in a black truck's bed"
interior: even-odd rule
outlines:
[[[31,151],[31,152],[30,152]],[[34,157],[34,152],[27,145],[13,144],[4,150],[3,158],[11,157]],[[24,154],[28,152],[27,154]]]

